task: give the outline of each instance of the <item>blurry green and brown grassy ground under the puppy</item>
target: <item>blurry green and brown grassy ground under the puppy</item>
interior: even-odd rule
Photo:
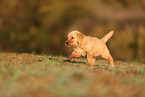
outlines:
[[[0,97],[143,97],[145,64],[63,56],[0,54]]]

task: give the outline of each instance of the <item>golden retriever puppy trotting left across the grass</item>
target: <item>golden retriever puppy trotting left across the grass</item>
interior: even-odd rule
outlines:
[[[114,31],[110,31],[102,39],[96,37],[85,36],[79,31],[72,31],[68,34],[68,40],[65,45],[68,47],[73,47],[74,51],[69,57],[69,60],[75,57],[86,56],[87,62],[93,67],[95,59],[97,56],[108,60],[112,67],[114,67],[113,58],[106,46],[106,42],[111,38]]]

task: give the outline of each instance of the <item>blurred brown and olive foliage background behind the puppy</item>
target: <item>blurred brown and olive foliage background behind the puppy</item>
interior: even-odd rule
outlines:
[[[0,52],[69,56],[67,34],[103,37],[115,60],[145,62],[145,0],[0,0]]]

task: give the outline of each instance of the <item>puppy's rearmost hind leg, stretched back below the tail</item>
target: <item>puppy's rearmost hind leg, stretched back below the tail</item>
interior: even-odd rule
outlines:
[[[114,67],[114,61],[113,61],[113,58],[108,50],[108,48],[106,47],[106,49],[104,50],[104,52],[101,54],[101,57],[108,60],[110,65],[112,67]]]

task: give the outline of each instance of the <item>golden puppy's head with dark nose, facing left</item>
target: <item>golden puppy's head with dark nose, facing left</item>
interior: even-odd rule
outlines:
[[[72,31],[68,34],[68,40],[65,42],[65,45],[68,47],[77,47],[79,44],[81,44],[84,37],[85,35],[83,35],[81,32]]]

